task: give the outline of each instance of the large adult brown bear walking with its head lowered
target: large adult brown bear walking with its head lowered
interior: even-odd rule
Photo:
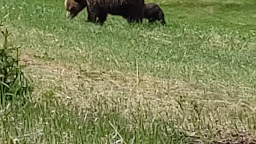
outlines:
[[[106,21],[107,15],[120,15],[128,22],[142,22],[145,0],[65,0],[68,17],[73,19],[87,7],[88,21]],[[97,19],[98,18],[98,19]]]

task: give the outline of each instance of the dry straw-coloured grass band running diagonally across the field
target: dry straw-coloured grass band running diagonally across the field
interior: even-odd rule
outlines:
[[[212,134],[205,137],[219,137],[220,131],[236,133],[241,127],[253,132],[246,121],[254,117],[255,108],[246,99],[225,100],[226,93],[202,91],[175,79],[46,62],[29,54],[22,55],[21,61],[27,63],[26,70],[34,79],[33,96],[37,98],[52,91],[69,105],[91,111],[102,108],[106,113],[118,111],[129,119],[136,115],[163,118],[194,135]]]

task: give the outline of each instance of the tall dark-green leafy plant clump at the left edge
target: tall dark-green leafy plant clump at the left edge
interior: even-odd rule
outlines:
[[[3,25],[0,24],[0,27]],[[3,45],[0,47],[0,103],[6,106],[10,101],[26,102],[30,81],[19,65],[19,46],[8,42],[11,35],[5,28],[1,30]]]

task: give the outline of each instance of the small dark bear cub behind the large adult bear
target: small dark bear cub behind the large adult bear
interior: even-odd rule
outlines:
[[[156,3],[147,3],[144,7],[143,18],[148,19],[149,22],[161,21],[162,25],[166,25],[164,20],[164,13]]]

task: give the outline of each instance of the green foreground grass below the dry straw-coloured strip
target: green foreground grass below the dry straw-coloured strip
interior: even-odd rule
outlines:
[[[92,115],[77,107],[67,109],[51,93],[37,102],[7,107],[0,113],[1,143],[185,143],[186,135],[173,124],[152,121],[139,126],[103,110]],[[135,120],[135,118],[134,118]],[[167,129],[168,128],[168,129]]]

